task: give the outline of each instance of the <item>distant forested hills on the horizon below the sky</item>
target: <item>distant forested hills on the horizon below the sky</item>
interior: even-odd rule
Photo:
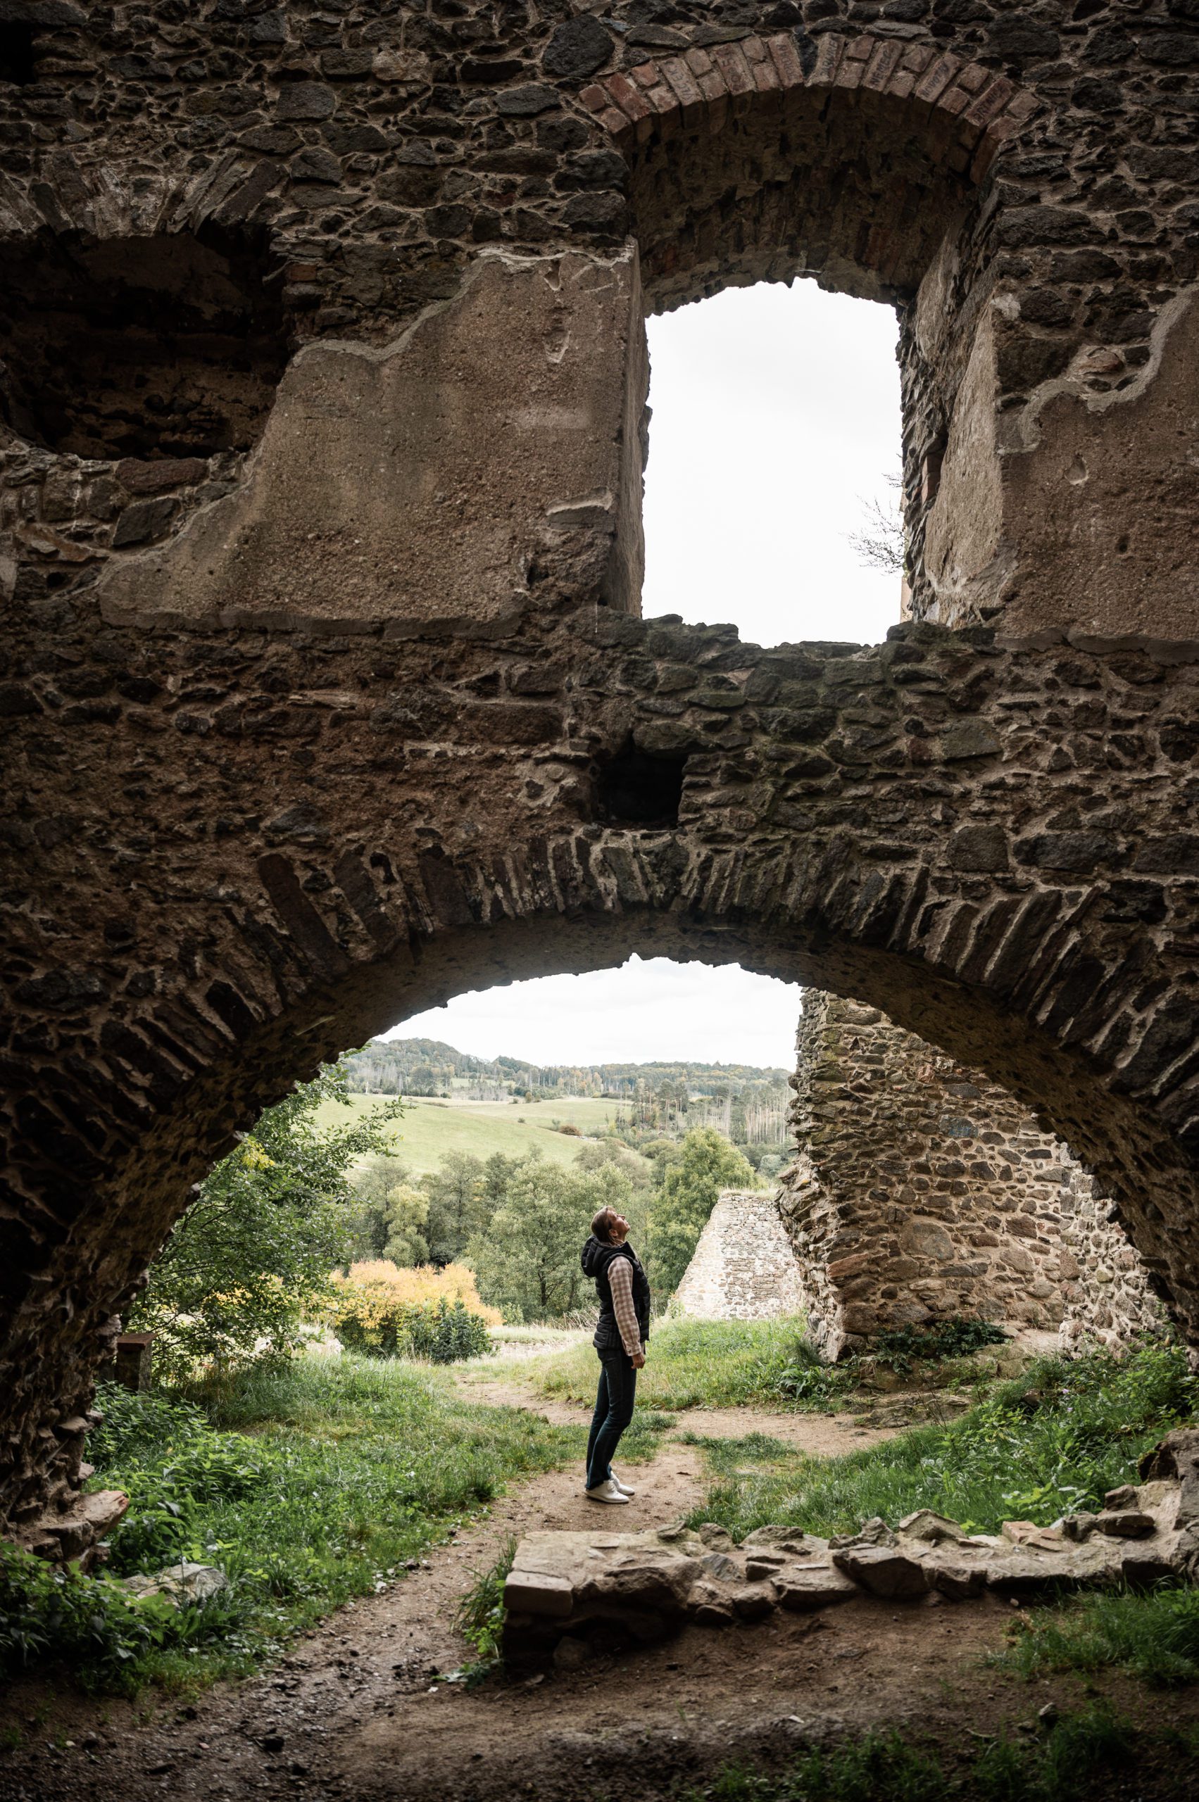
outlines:
[[[618,1105],[629,1128],[714,1124],[737,1142],[781,1142],[788,1072],[752,1063],[526,1063],[472,1058],[436,1038],[373,1040],[346,1060],[350,1088],[379,1096],[454,1096],[460,1101],[550,1101],[595,1096]]]

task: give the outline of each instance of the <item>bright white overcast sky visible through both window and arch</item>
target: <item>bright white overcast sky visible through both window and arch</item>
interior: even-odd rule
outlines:
[[[898,577],[847,533],[900,467],[896,321],[795,287],[727,288],[649,321],[653,423],[642,611],[732,622],[741,638],[878,643]],[[460,995],[391,1038],[535,1063],[793,1063],[801,991],[745,969],[629,959]]]

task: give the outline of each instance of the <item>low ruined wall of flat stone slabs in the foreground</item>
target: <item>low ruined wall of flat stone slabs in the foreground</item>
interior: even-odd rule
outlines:
[[[1111,1490],[1100,1514],[1051,1526],[1004,1521],[999,1534],[966,1534],[930,1508],[894,1528],[876,1517],[833,1539],[759,1526],[741,1546],[716,1523],[528,1534],[505,1584],[505,1660],[579,1665],[593,1649],[645,1645],[687,1622],[732,1627],[777,1607],[806,1613],[860,1595],[961,1602],[984,1589],[1015,1597],[1194,1577],[1199,1429],[1170,1433],[1141,1461],[1141,1476],[1140,1487]]]

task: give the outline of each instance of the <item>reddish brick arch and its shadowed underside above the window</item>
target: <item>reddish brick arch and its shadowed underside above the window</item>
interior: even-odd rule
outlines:
[[[651,306],[797,272],[911,297],[1001,148],[1040,110],[993,68],[869,32],[802,47],[792,32],[746,36],[640,63],[579,97],[629,160]]]

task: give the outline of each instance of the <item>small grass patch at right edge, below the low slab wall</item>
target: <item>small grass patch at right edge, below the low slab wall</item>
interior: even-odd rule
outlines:
[[[1051,1670],[1129,1670],[1152,1688],[1199,1679],[1199,1589],[1161,1588],[1084,1595],[1013,1622],[997,1663],[1021,1676]]]

